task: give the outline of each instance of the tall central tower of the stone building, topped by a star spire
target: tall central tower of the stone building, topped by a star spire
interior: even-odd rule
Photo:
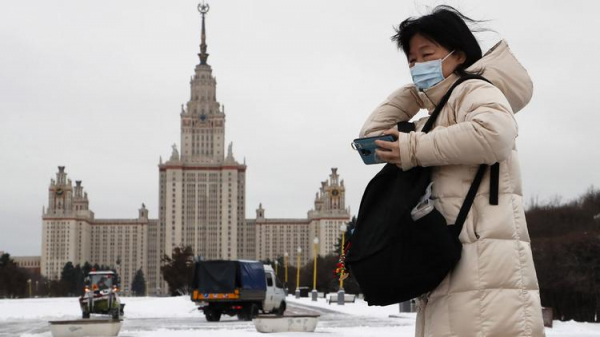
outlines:
[[[243,257],[246,242],[246,165],[235,160],[232,144],[225,152],[225,109],[217,101],[217,81],[207,63],[209,6],[200,4],[198,10],[200,63],[180,113],[181,153],[173,145],[169,160],[159,164],[158,259],[181,245],[191,246],[205,259],[237,259]],[[159,261],[149,263],[160,268]]]

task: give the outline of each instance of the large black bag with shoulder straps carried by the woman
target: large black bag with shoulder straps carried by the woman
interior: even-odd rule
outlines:
[[[431,130],[454,88],[470,79],[487,81],[478,75],[458,79],[442,97],[422,132]],[[398,129],[410,132],[414,130],[414,125],[410,125],[400,123]],[[494,166],[497,168],[498,164]],[[345,260],[369,305],[410,300],[440,284],[460,259],[462,244],[458,235],[487,167],[479,167],[454,225],[447,225],[435,208],[417,221],[411,217],[411,210],[431,182],[430,167],[402,171],[394,164],[386,164],[373,177],[363,194]]]

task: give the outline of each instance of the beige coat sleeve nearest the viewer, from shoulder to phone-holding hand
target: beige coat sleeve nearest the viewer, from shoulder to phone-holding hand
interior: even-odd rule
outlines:
[[[462,87],[462,88],[461,88]],[[444,110],[455,111],[456,124],[429,133],[400,134],[403,170],[415,166],[476,165],[501,162],[510,155],[517,123],[502,92],[483,81],[457,87],[457,98]]]

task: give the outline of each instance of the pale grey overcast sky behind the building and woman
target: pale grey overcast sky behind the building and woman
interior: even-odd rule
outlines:
[[[517,115],[525,199],[600,185],[599,5],[592,1],[212,0],[208,63],[226,138],[246,157],[247,216],[304,217],[338,167],[356,214],[381,168],[350,148],[371,110],[410,82],[393,25],[448,3],[504,38],[533,78]],[[179,146],[198,63],[197,1],[0,3],[0,250],[41,251],[57,166],[97,218],[158,216],[158,160]]]

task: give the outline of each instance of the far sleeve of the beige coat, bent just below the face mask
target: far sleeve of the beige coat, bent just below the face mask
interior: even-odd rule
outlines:
[[[370,137],[408,121],[421,109],[422,103],[414,84],[394,91],[371,113],[360,130],[359,137]]]

